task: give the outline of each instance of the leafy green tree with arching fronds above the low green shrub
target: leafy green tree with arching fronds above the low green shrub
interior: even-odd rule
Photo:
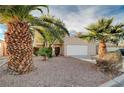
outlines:
[[[44,15],[37,22],[38,26],[34,26],[33,28],[41,34],[46,46],[51,47],[55,40],[63,42],[65,35],[69,36],[65,24],[60,19]]]

